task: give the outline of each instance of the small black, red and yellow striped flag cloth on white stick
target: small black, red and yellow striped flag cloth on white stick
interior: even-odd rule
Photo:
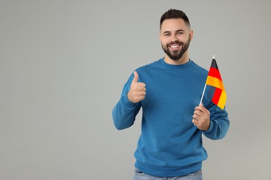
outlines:
[[[211,98],[212,102],[221,109],[224,109],[227,100],[227,94],[224,89],[224,85],[222,82],[220,71],[215,61],[215,57],[213,57],[211,67],[208,72],[206,85],[214,87],[213,97]]]

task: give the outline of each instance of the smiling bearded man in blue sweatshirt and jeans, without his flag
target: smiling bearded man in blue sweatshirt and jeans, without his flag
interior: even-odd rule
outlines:
[[[207,159],[202,134],[211,139],[227,134],[227,111],[205,95],[198,106],[208,71],[189,58],[192,37],[184,12],[165,12],[160,21],[165,57],[136,69],[113,109],[115,127],[125,129],[142,107],[134,179],[202,179]]]

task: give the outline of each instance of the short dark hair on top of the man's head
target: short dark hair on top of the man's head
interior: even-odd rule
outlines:
[[[175,10],[175,9],[167,10],[167,12],[165,12],[161,17],[160,29],[165,19],[183,19],[183,21],[190,27],[189,19],[186,16],[186,13],[184,13],[181,10]]]

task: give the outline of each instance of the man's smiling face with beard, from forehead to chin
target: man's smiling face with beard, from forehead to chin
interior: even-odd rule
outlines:
[[[170,59],[180,60],[188,50],[192,30],[183,19],[166,19],[161,26],[160,39],[163,51]]]

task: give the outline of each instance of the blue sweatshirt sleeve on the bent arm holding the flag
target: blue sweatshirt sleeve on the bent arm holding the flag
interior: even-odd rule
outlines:
[[[224,138],[226,136],[229,129],[229,118],[228,113],[224,109],[220,109],[213,103],[211,103],[211,107],[207,108],[210,115],[210,127],[206,132],[203,132],[207,138],[217,140]]]

